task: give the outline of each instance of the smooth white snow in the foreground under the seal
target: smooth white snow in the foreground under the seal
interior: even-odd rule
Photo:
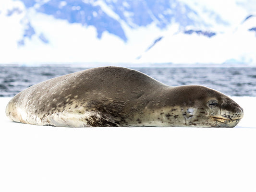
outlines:
[[[1,192],[255,192],[256,97],[236,128],[57,128],[9,121]]]

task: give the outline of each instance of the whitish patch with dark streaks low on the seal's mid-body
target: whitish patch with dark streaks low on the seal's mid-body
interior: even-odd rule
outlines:
[[[56,127],[118,127],[118,123],[110,115],[97,111],[81,111],[77,108],[47,116],[47,124]]]

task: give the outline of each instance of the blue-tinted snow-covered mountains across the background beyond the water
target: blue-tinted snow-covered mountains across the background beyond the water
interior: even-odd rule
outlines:
[[[255,10],[253,0],[4,0],[0,63],[256,63]]]

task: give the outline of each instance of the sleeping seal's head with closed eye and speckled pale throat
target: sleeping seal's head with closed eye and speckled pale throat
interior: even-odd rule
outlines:
[[[170,111],[167,114],[175,115],[176,123],[183,126],[234,127],[244,115],[243,108],[231,98],[205,86],[177,86],[170,93],[171,111],[182,115]]]

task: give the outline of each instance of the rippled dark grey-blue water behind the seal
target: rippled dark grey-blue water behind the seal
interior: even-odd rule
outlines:
[[[0,66],[0,96],[14,96],[33,84],[85,69],[54,66]],[[256,68],[150,67],[134,69],[171,86],[200,84],[229,96],[256,96]]]

